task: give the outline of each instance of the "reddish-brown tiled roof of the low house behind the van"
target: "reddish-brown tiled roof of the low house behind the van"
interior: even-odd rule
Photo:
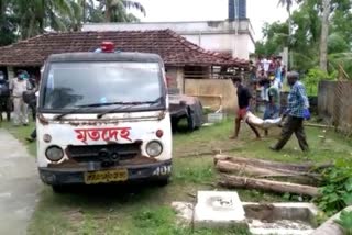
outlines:
[[[155,53],[164,59],[170,86],[183,89],[183,79],[210,78],[221,68],[248,67],[248,61],[213,53],[188,42],[170,30],[47,33],[0,47],[0,69],[9,77],[21,68],[37,74],[51,54],[94,52],[111,41],[122,52]]]

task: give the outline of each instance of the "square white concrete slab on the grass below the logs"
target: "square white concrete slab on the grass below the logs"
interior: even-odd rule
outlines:
[[[246,224],[245,213],[237,192],[199,191],[195,206],[195,226],[231,226]]]

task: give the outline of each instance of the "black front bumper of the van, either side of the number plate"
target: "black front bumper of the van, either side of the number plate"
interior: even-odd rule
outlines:
[[[167,179],[172,174],[172,160],[158,161],[140,166],[118,166],[109,168],[113,169],[127,169],[128,180],[161,180]],[[85,174],[91,172],[87,169],[67,169],[67,168],[38,168],[40,177],[44,183],[51,186],[59,184],[86,184]]]

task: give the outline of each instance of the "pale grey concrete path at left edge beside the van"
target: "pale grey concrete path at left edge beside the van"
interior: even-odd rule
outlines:
[[[0,153],[0,234],[23,235],[42,187],[35,159],[3,130]]]

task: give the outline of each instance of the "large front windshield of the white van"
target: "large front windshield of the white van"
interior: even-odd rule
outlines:
[[[146,108],[151,103],[155,108],[162,104],[160,98],[163,97],[157,63],[53,63],[43,86],[45,110],[90,107],[91,111],[124,103],[140,104],[130,109]]]

